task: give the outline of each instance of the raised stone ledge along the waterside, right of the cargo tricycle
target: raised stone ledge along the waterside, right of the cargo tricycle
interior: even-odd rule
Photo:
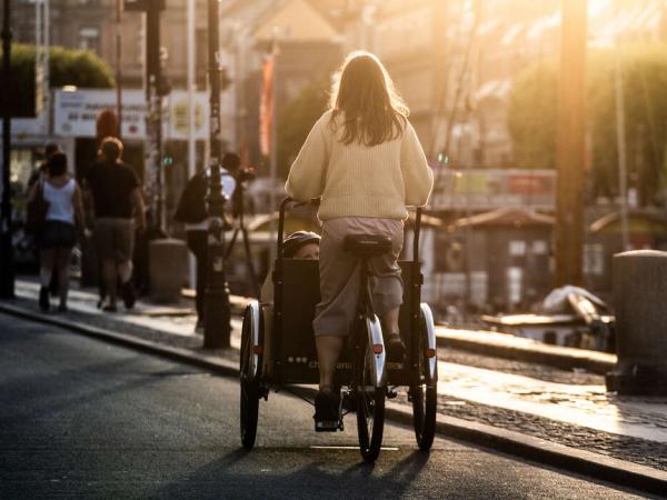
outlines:
[[[479,338],[484,336],[482,338]],[[449,347],[495,358],[546,364],[564,370],[575,368],[606,374],[616,368],[616,357],[587,349],[548,346],[531,339],[498,332],[474,332],[436,327],[439,347]]]

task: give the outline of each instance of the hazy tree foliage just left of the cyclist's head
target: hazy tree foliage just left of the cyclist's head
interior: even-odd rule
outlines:
[[[278,174],[283,179],[308,132],[326,110],[327,92],[323,82],[308,84],[278,117]]]

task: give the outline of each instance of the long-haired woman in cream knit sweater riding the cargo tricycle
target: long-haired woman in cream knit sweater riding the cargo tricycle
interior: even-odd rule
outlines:
[[[426,204],[434,181],[407,116],[408,108],[378,58],[354,52],[334,86],[330,109],[312,127],[289,171],[286,190],[291,198],[321,197],[321,301],[312,323],[320,372],[316,423],[338,417],[340,394],[334,376],[359,294],[359,259],[344,250],[347,234],[391,239],[389,254],[369,260],[372,303],[389,357],[405,354],[398,329],[402,281],[397,259],[406,206]]]

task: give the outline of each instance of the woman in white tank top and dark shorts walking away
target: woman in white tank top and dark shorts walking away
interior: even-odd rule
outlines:
[[[51,156],[46,173],[30,191],[29,201],[32,202],[37,197],[42,197],[48,203],[43,227],[36,234],[40,249],[39,307],[44,312],[50,309],[49,284],[57,269],[60,299],[58,311],[64,312],[72,248],[77,243],[77,226],[82,229],[84,221],[81,190],[68,173],[67,156],[63,152],[58,151]]]

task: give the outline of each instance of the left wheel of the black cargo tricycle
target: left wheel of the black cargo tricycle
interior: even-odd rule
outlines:
[[[243,314],[243,326],[241,330],[241,350],[240,350],[240,432],[241,443],[247,450],[251,450],[257,438],[257,422],[259,414],[259,380],[251,377],[249,371],[250,357],[252,356],[251,331],[250,331],[250,308],[246,309]]]

